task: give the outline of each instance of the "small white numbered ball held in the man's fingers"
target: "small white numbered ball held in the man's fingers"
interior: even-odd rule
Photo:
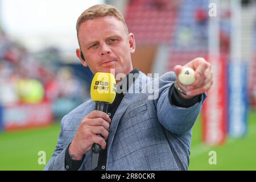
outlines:
[[[181,84],[191,85],[195,81],[195,71],[192,68],[183,68],[178,78]]]

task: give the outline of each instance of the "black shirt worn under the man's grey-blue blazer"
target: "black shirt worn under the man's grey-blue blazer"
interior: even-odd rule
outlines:
[[[138,69],[133,69],[133,71],[131,71],[130,73],[135,74],[135,73],[139,73],[139,71],[138,71]],[[130,86],[129,85],[129,77],[127,76],[126,78],[127,78],[127,89],[128,89]],[[131,83],[132,82],[130,82],[130,84]],[[200,102],[200,100],[201,100],[200,96],[195,96],[189,100],[180,98],[178,96],[176,89],[174,89],[174,86],[171,86],[168,94],[169,94],[170,102],[173,105],[178,106],[178,107],[190,107],[192,105],[195,105],[197,102]],[[125,93],[117,93],[115,96],[114,102],[108,106],[108,114],[110,115],[110,119],[112,119],[114,117],[115,111],[117,110],[119,104],[121,103],[123,96],[125,96]],[[107,143],[106,149],[101,150],[100,155],[99,155],[99,160],[98,160],[98,166],[94,169],[94,171],[105,171],[106,170],[108,139],[106,140],[106,143]],[[69,146],[67,147],[67,149],[65,151],[65,170],[76,171],[81,167],[81,164],[84,161],[85,155],[83,156],[83,158],[81,160],[72,160],[69,155],[68,148],[69,148]]]

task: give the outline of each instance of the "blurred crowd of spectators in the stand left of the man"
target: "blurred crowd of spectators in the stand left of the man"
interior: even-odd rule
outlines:
[[[71,108],[70,103],[86,100],[85,87],[71,67],[57,61],[44,64],[0,30],[0,105],[48,101],[53,108],[60,108],[59,102]]]

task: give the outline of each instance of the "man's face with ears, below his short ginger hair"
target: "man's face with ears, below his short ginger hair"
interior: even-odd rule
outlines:
[[[127,75],[133,69],[134,35],[128,35],[123,23],[114,16],[87,20],[80,25],[78,36],[85,61],[81,59],[80,49],[76,49],[77,57],[93,74],[115,69],[115,75]]]

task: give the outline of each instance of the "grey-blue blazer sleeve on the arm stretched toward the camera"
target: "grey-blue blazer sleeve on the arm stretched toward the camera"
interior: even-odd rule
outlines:
[[[171,103],[169,92],[174,89],[174,72],[159,77],[158,99],[155,100],[159,122],[164,128],[175,134],[184,134],[192,128],[200,113],[206,94],[201,94],[200,102],[191,107],[177,107]]]

